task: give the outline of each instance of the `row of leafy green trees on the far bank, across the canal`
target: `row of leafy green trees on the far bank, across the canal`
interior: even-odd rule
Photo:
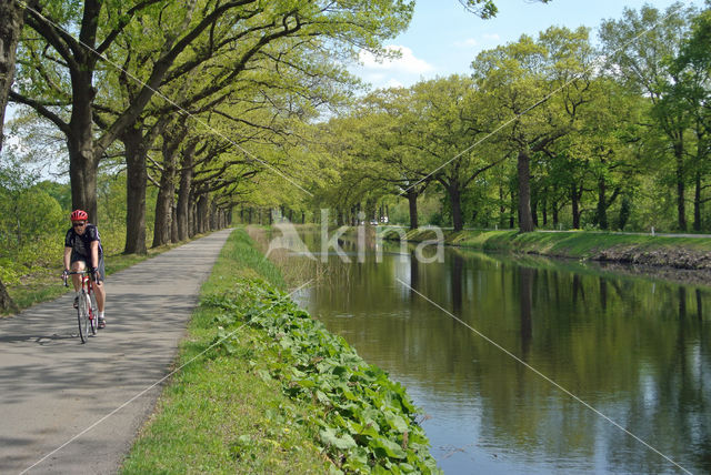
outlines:
[[[370,93],[319,130],[339,210],[422,198],[465,223],[532,231],[710,230],[711,12],[625,10],[481,52],[471,75]],[[690,205],[691,204],[691,205]],[[372,208],[372,206],[371,206]],[[613,213],[612,213],[613,212]]]

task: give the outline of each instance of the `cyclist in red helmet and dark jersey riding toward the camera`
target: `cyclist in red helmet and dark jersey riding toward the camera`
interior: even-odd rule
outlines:
[[[89,215],[86,211],[74,210],[71,212],[71,228],[64,236],[64,272],[79,272],[89,269],[94,281],[94,293],[97,295],[97,306],[99,307],[99,329],[107,325],[103,315],[103,304],[106,302],[106,289],[103,285],[104,266],[103,249],[99,230],[94,224],[88,222]],[[74,309],[79,306],[79,292],[81,290],[81,276],[72,275],[74,284]]]

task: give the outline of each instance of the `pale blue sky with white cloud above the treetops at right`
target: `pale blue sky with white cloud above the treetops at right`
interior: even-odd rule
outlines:
[[[672,0],[499,0],[499,14],[482,20],[464,10],[458,0],[418,0],[408,31],[387,41],[401,51],[394,62],[378,63],[361,54],[364,65],[351,70],[375,88],[411,85],[420,79],[469,73],[477,53],[515,41],[521,34],[535,37],[550,26],[592,29],[593,38],[602,20],[620,19],[623,9],[639,10],[644,3],[665,10]],[[702,7],[703,1],[683,4]]]

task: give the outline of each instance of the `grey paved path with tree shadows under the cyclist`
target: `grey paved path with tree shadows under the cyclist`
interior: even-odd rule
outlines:
[[[110,275],[107,329],[87,344],[78,336],[73,293],[0,320],[0,474],[22,473],[92,424],[27,473],[117,472],[161,385],[136,396],[169,373],[229,234]]]

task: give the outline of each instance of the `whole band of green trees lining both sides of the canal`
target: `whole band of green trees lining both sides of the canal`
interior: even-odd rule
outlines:
[[[627,10],[603,22],[599,50],[584,28],[550,28],[482,52],[470,75],[356,97],[347,60],[382,52],[412,8],[0,2],[0,109],[14,102],[20,138],[3,161],[59,162],[70,203],[52,183],[47,199],[120,219],[128,253],[224,224],[238,204],[347,222],[407,202],[417,226],[418,204],[437,202],[439,224],[530,231],[672,215],[685,230],[691,202],[708,229],[708,11]],[[117,196],[100,205],[121,189],[120,212]]]

